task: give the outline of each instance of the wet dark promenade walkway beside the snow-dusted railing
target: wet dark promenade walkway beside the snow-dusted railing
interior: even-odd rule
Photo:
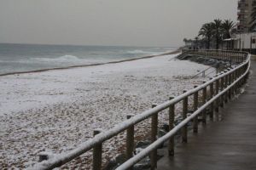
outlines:
[[[225,106],[223,120],[189,133],[189,143],[177,144],[175,156],[161,158],[157,169],[256,169],[256,61],[252,70],[245,93]]]

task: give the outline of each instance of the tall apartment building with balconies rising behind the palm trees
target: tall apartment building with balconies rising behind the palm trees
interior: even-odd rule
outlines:
[[[245,33],[250,31],[252,26],[253,13],[253,0],[239,0],[238,1],[238,12],[237,12],[237,31],[240,33]]]

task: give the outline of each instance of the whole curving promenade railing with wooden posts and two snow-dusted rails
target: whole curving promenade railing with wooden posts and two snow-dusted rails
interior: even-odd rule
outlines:
[[[61,167],[61,165],[72,161],[74,158],[81,156],[88,150],[93,150],[93,169],[99,170],[102,168],[102,143],[108,139],[113,138],[117,134],[126,131],[126,160],[124,164],[117,169],[132,169],[132,167],[141,161],[144,157],[150,155],[151,169],[157,167],[157,153],[156,150],[160,144],[168,141],[169,155],[174,155],[174,135],[181,131],[182,141],[188,142],[188,122],[193,121],[193,131],[197,132],[198,129],[198,116],[202,116],[202,122],[207,123],[206,109],[210,110],[210,118],[213,119],[213,112],[218,116],[219,107],[223,107],[224,103],[227,103],[232,96],[237,92],[237,89],[241,87],[247,80],[248,71],[250,68],[250,54],[237,51],[188,51],[187,54],[205,54],[207,57],[213,56],[217,59],[231,59],[232,62],[237,65],[230,67],[229,69],[219,73],[216,77],[212,77],[208,82],[204,82],[201,86],[190,89],[189,91],[183,91],[183,94],[176,98],[170,98],[160,105],[153,105],[153,108],[144,111],[137,116],[129,116],[128,120],[119,123],[117,126],[109,129],[106,132],[96,132],[96,136],[93,139],[89,139],[84,144],[80,144],[78,148],[71,150],[68,153],[55,155],[47,160],[47,156],[44,156],[45,161],[39,162],[32,169],[53,169],[55,167]],[[217,55],[218,54],[218,55]],[[209,88],[209,89],[208,89]],[[202,92],[201,106],[199,105],[199,93]],[[188,116],[189,96],[193,95],[193,108],[194,113]],[[178,123],[177,126],[173,126],[175,116],[175,105],[183,102],[183,121]],[[168,109],[169,113],[169,133],[166,133],[160,139],[156,139],[158,130],[158,114],[160,111]],[[148,118],[151,118],[151,144],[133,156],[134,150],[134,126],[137,123],[142,122]]]

